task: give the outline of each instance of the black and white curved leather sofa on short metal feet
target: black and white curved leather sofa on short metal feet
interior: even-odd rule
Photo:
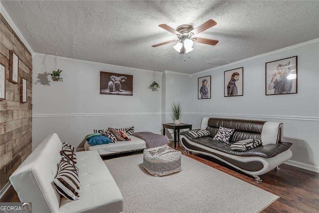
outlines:
[[[248,151],[230,149],[230,144],[213,140],[218,128],[235,129],[230,144],[245,139],[259,139],[262,146]],[[214,157],[246,174],[256,181],[262,181],[259,175],[265,174],[292,157],[289,149],[292,143],[283,142],[283,124],[277,122],[203,118],[201,129],[210,132],[208,137],[193,139],[186,132],[180,133],[180,142],[187,152],[200,153]]]

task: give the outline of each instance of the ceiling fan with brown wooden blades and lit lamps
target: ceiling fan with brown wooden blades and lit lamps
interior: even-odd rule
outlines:
[[[204,43],[209,45],[216,45],[218,43],[218,40],[213,39],[207,39],[207,38],[199,38],[199,37],[193,37],[194,35],[205,31],[206,29],[215,26],[217,23],[209,19],[208,21],[202,23],[201,25],[197,26],[196,28],[193,28],[192,25],[189,24],[183,24],[180,25],[175,29],[171,28],[167,24],[160,24],[159,27],[167,30],[168,32],[171,32],[175,35],[177,35],[177,39],[165,41],[159,44],[152,45],[153,47],[161,46],[164,44],[177,42],[178,43],[174,46],[174,49],[179,52],[179,54],[188,53],[193,50],[193,41],[197,43]]]

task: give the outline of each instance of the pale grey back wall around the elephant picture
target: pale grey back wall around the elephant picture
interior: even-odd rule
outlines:
[[[64,82],[48,82],[43,73],[52,72],[53,60],[33,58],[33,149],[53,132],[75,146],[93,129],[134,126],[160,133],[161,89],[148,88],[152,71],[58,58]],[[133,75],[133,96],[100,95],[100,71]],[[161,85],[161,73],[156,75]]]

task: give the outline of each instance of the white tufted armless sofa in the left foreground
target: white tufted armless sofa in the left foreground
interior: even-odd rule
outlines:
[[[119,213],[123,197],[97,151],[77,153],[80,199],[70,201],[54,188],[62,143],[47,136],[9,178],[21,202],[32,202],[33,213]]]

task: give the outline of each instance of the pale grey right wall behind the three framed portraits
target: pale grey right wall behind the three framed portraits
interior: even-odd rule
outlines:
[[[296,55],[298,94],[266,96],[265,63]],[[224,97],[224,71],[238,67],[244,67],[244,96]],[[197,78],[207,75],[211,75],[212,98],[198,100]],[[293,143],[289,163],[319,171],[318,42],[194,75],[190,85],[187,117],[195,128],[202,117],[283,122],[285,141]]]

